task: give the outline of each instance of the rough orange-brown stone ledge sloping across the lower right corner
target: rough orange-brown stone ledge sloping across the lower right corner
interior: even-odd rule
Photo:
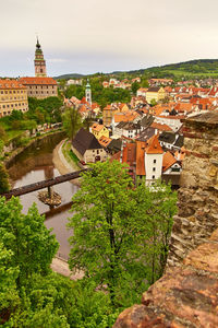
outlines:
[[[113,328],[217,328],[218,230],[192,250],[183,265],[170,268]]]

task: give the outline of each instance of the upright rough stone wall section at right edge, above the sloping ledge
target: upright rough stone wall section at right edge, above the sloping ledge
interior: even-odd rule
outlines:
[[[184,148],[178,215],[168,266],[177,266],[218,227],[218,112],[184,121]]]

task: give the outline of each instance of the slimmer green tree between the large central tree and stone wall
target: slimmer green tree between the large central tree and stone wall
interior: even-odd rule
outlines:
[[[135,189],[136,215],[141,216],[138,242],[144,248],[143,257],[147,267],[147,280],[154,283],[165,270],[169,239],[177,212],[177,194],[170,185],[157,181],[153,189],[144,184]]]

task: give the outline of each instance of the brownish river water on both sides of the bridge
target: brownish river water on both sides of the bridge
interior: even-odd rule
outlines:
[[[24,153],[16,156],[13,163],[8,166],[13,188],[60,175],[52,163],[52,152],[60,140],[61,136],[38,141],[37,144],[28,148]],[[55,233],[60,244],[58,255],[64,259],[68,259],[70,251],[68,239],[71,236],[71,231],[69,231],[65,225],[68,218],[72,216],[72,214],[69,213],[71,198],[77,188],[77,186],[69,181],[53,186],[53,190],[62,198],[61,206],[55,209],[49,208],[49,206],[38,200],[38,191],[33,191],[20,197],[24,213],[26,213],[28,208],[35,202],[39,213],[46,215],[45,224],[48,229],[53,230],[52,233]]]

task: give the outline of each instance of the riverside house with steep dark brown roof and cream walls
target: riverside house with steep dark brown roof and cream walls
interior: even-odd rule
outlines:
[[[72,151],[85,163],[106,161],[108,155],[95,136],[81,128],[72,141]]]

